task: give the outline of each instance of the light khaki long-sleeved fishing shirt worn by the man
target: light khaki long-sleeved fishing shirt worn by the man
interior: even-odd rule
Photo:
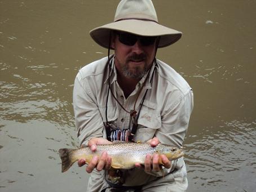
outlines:
[[[77,74],[74,82],[73,105],[76,119],[77,135],[80,145],[87,145],[94,137],[106,138],[104,123],[106,122],[106,102],[111,84],[117,100],[127,110],[139,111],[144,94],[144,102],[138,118],[138,129],[135,141],[146,142],[157,137],[162,144],[182,146],[187,132],[189,117],[193,109],[193,92],[188,83],[173,68],[160,60],[153,63],[152,68],[136,85],[135,90],[125,98],[117,82],[114,57],[111,61],[112,71],[109,78],[108,58],[84,66]],[[144,83],[145,81],[145,83]],[[140,91],[140,89],[142,90]],[[121,108],[109,91],[107,102],[107,118],[114,129],[131,130],[133,119]],[[129,158],[129,157],[127,157]],[[164,168],[165,177],[161,172],[147,172],[133,168],[125,171],[125,186],[144,185],[157,186],[156,183],[178,184],[186,189],[187,173],[183,158],[174,160],[171,168]],[[163,183],[164,182],[164,183]],[[104,171],[93,171],[90,174],[88,191],[100,191],[107,187]],[[165,186],[165,187],[166,187]]]

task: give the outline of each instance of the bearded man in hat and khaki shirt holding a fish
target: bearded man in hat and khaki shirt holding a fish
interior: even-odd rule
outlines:
[[[114,22],[91,30],[109,55],[83,67],[74,83],[73,104],[80,145],[92,151],[114,140],[150,142],[181,147],[193,108],[188,83],[169,65],[155,58],[157,48],[178,41],[182,33],[158,24],[149,0],[123,0]],[[129,158],[129,157],[127,157]],[[158,164],[164,163],[164,177]],[[84,159],[78,161],[79,166]],[[145,157],[129,170],[109,171],[105,151],[87,165],[87,191],[185,191],[183,158]]]

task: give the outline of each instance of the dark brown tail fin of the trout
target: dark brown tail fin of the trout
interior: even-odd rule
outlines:
[[[68,171],[68,169],[72,166],[74,162],[76,162],[76,159],[72,158],[73,151],[75,149],[60,149],[59,155],[61,158],[61,172]]]

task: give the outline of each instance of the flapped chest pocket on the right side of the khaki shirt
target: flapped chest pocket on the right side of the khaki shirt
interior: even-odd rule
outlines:
[[[135,141],[145,142],[152,139],[161,124],[161,114],[157,110],[157,104],[145,100],[139,114]]]

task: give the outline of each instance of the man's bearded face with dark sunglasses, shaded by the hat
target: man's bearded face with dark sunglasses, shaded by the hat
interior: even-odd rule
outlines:
[[[155,57],[156,38],[117,33],[114,35],[112,47],[118,73],[128,78],[140,79],[151,68]]]

